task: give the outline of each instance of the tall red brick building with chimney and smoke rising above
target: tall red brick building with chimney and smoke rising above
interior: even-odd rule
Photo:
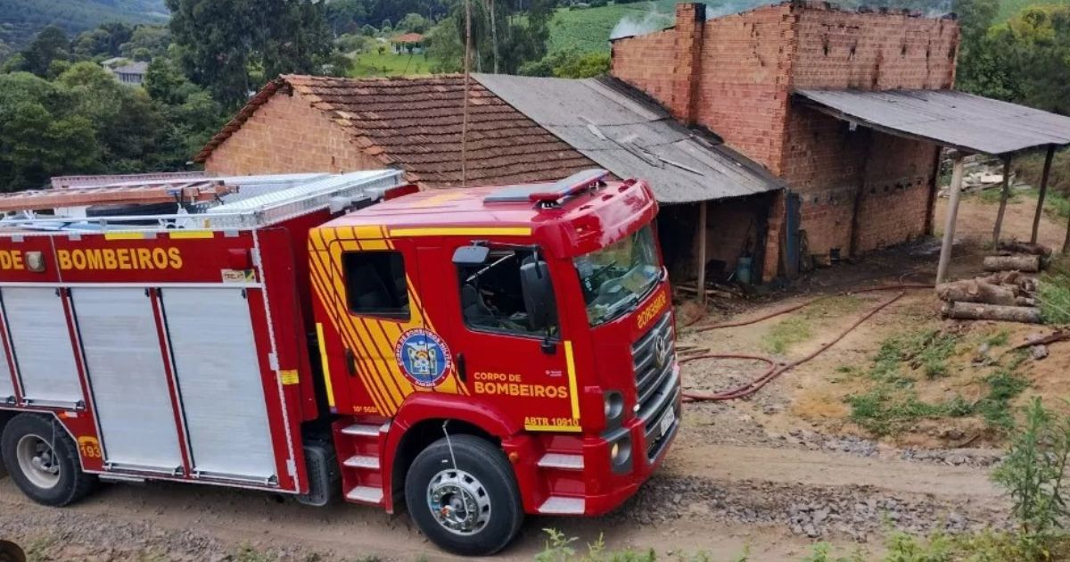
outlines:
[[[612,46],[614,77],[789,184],[798,212],[786,221],[800,221],[806,253],[846,257],[931,233],[939,148],[837,119],[795,92],[949,89],[954,19],[793,1],[707,21],[704,5],[679,4],[675,27]],[[769,244],[792,226],[770,222]]]

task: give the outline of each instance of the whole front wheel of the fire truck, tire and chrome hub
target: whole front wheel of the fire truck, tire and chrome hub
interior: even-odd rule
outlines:
[[[419,530],[440,547],[463,556],[505,548],[524,518],[509,461],[500,449],[473,436],[440,439],[417,455],[404,495]]]

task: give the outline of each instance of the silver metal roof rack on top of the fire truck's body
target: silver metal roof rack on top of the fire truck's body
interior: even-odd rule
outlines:
[[[218,179],[217,179],[218,180]],[[238,180],[238,181],[230,181]],[[264,177],[257,182],[264,184]],[[241,180],[228,178],[231,185],[241,189]],[[305,182],[281,182],[279,189],[254,197],[224,202],[214,207],[188,212],[133,216],[32,216],[29,218],[0,219],[3,227],[45,231],[158,231],[168,229],[226,230],[256,228],[281,223],[315,211],[331,208],[339,199],[350,202],[382,199],[392,187],[401,185],[400,170],[371,170],[316,177]],[[173,199],[172,199],[173,200]]]

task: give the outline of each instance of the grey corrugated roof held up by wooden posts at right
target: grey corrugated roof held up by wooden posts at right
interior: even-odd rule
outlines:
[[[840,119],[966,152],[1007,154],[1070,143],[1070,117],[952,90],[795,93]]]

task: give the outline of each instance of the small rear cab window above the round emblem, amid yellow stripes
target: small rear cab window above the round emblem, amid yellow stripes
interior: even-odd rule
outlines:
[[[409,290],[400,252],[342,254],[346,292],[353,314],[409,319]]]

